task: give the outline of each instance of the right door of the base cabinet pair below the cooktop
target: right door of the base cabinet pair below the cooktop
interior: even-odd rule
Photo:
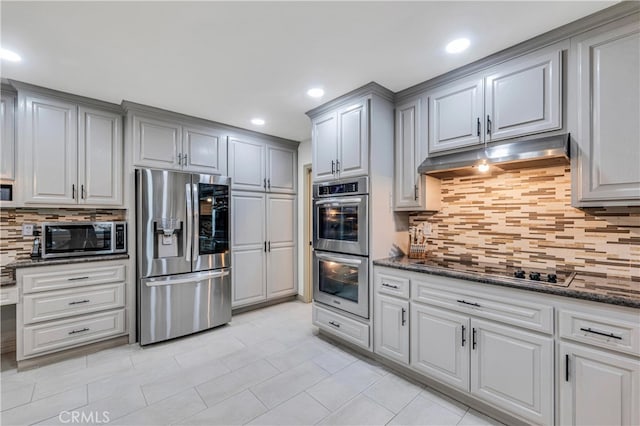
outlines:
[[[471,393],[533,423],[553,423],[553,339],[471,320]]]

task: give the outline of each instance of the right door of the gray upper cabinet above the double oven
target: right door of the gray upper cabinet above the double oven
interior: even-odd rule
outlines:
[[[339,177],[366,176],[369,173],[369,101],[362,99],[338,111],[338,159],[336,173]]]

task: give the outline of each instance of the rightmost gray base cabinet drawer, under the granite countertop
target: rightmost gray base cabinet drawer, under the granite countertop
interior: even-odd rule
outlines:
[[[560,311],[560,337],[594,346],[640,355],[640,324],[602,315]]]

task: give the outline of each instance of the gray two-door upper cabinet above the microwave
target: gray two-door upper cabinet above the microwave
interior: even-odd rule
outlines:
[[[30,92],[18,96],[24,203],[121,206],[118,107],[101,109]]]

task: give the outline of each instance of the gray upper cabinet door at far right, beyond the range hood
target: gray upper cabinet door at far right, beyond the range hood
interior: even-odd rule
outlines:
[[[575,43],[578,201],[640,203],[640,25]],[[574,175],[575,176],[575,175]]]

